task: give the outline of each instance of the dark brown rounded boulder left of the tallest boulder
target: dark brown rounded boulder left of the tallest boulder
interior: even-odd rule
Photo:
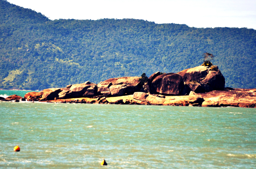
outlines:
[[[180,95],[183,88],[183,79],[177,73],[166,73],[157,76],[151,84],[152,92],[167,95]]]

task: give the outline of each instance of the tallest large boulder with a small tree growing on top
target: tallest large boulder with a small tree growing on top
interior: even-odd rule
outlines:
[[[180,71],[183,81],[189,83],[199,83],[207,92],[212,90],[223,90],[225,78],[217,66],[198,66]]]

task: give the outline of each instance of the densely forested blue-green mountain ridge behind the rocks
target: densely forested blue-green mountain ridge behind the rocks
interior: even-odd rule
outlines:
[[[0,88],[42,90],[179,72],[215,56],[227,87],[256,88],[256,30],[135,19],[49,20],[0,0]]]

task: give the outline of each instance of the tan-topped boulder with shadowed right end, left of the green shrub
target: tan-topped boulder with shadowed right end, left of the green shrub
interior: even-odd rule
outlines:
[[[112,85],[126,85],[124,94],[133,94],[140,91],[142,84],[139,81],[139,77],[119,77],[105,80],[104,83],[111,82]],[[125,87],[125,86],[122,86]],[[122,92],[121,92],[122,93]]]

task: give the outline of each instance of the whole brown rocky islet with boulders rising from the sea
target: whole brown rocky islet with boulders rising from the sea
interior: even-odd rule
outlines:
[[[145,73],[143,73],[145,74]],[[84,82],[64,88],[49,88],[12,95],[2,101],[41,101],[52,103],[144,104],[203,107],[256,108],[256,89],[225,87],[218,66],[198,66],[178,73],[153,73],[149,78],[119,77],[99,84]]]

